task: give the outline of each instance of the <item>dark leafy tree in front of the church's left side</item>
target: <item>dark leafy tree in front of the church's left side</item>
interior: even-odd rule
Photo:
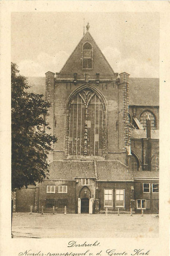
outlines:
[[[47,154],[52,150],[55,136],[43,116],[51,104],[43,95],[29,93],[26,78],[18,66],[11,63],[11,124],[12,124],[12,191],[35,182],[48,174]]]

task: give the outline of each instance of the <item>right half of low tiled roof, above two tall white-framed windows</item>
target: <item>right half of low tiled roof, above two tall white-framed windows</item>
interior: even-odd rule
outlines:
[[[118,160],[96,161],[98,181],[133,181],[132,172]]]

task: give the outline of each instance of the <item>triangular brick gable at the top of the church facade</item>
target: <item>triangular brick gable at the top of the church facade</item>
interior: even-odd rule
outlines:
[[[86,42],[88,43],[86,44]],[[109,65],[89,31],[86,32],[66,61],[58,78],[64,78],[64,75],[74,73],[77,73],[78,75],[85,73],[88,73],[89,75],[96,75],[96,73],[99,73],[100,75],[114,74],[112,67]]]

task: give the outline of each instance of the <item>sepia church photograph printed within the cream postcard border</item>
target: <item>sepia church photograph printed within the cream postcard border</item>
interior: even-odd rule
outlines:
[[[159,21],[11,12],[12,238],[159,237]]]

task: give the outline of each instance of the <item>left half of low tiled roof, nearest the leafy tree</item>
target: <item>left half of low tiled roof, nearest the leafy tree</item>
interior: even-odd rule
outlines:
[[[49,164],[50,180],[95,178],[93,161],[53,161]]]

